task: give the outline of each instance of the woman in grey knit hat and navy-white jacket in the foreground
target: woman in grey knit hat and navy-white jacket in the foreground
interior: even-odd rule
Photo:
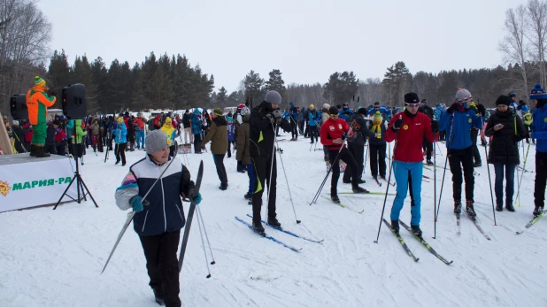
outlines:
[[[186,222],[181,196],[193,199],[196,204],[201,203],[202,197],[199,193],[194,196],[195,184],[186,166],[179,158],[169,156],[171,139],[167,134],[150,131],[144,142],[147,155],[129,167],[129,173],[116,189],[116,204],[120,210],[132,208],[136,212],[133,226],[143,246],[149,285],[156,302],[181,306],[177,250]],[[171,159],[173,163],[169,165]],[[156,180],[159,182],[152,187]]]

